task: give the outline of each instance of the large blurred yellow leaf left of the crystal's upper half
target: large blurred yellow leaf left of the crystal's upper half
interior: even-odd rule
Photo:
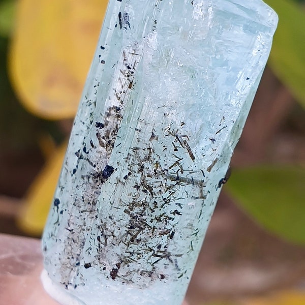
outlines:
[[[24,106],[50,119],[75,115],[107,0],[20,0],[9,66]]]

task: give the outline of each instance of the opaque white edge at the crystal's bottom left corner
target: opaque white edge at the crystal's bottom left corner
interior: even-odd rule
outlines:
[[[58,303],[62,305],[85,305],[84,302],[77,297],[72,296],[66,289],[63,289],[62,286],[54,283],[45,269],[41,272],[40,279],[46,292]]]

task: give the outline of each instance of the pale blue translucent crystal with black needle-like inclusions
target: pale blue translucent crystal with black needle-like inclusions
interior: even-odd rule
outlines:
[[[182,301],[276,26],[259,0],[110,0],[43,235],[60,302]]]

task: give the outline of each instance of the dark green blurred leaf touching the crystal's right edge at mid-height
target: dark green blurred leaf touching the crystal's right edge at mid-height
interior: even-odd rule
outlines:
[[[260,166],[234,170],[226,189],[267,230],[305,244],[304,186],[304,168]]]

